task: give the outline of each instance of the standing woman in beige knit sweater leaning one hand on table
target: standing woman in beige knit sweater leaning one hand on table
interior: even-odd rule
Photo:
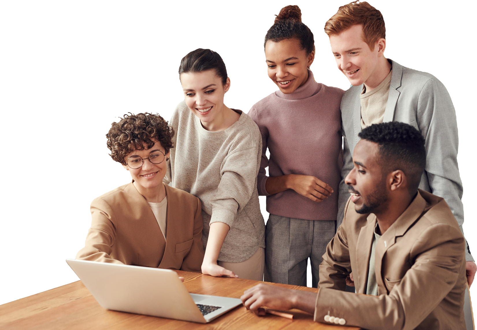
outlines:
[[[263,280],[259,128],[246,113],[224,104],[230,79],[217,52],[197,48],[187,53],[178,74],[184,101],[169,119],[176,147],[164,182],[202,201],[202,273]]]

